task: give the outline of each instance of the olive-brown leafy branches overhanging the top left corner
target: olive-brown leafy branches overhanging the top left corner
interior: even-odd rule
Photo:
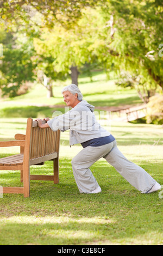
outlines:
[[[103,0],[105,2],[106,0]],[[42,27],[52,28],[59,21],[69,27],[76,22],[85,7],[96,7],[100,0],[0,0],[0,16],[3,20],[21,24],[31,24],[36,13],[43,17]]]

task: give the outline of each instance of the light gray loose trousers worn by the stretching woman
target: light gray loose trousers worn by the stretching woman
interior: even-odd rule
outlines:
[[[127,160],[114,141],[99,147],[88,146],[72,159],[73,174],[80,193],[91,192],[99,186],[89,168],[101,157],[142,193],[150,190],[156,182],[144,169]]]

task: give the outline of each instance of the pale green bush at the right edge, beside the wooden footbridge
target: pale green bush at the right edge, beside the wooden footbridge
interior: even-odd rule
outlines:
[[[163,124],[163,95],[150,98],[147,105],[147,123]]]

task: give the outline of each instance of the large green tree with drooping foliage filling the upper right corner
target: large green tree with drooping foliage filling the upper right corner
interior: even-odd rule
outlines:
[[[163,89],[163,63],[159,56],[162,1],[108,1],[102,9],[110,32],[109,44],[101,48],[109,57],[105,59],[106,70],[124,69],[131,75],[137,70],[148,83],[155,82]]]

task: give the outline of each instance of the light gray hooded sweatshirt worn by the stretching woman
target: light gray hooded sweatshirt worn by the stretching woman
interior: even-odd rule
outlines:
[[[97,122],[93,113],[94,109],[94,106],[82,100],[67,113],[59,115],[47,123],[53,131],[64,132],[70,129],[70,146],[90,139],[109,136],[110,132]]]

